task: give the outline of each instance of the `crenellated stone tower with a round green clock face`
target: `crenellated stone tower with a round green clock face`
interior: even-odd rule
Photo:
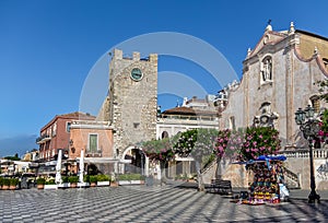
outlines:
[[[133,52],[126,58],[115,49],[108,92],[98,119],[112,124],[114,154],[124,159],[126,149],[156,137],[157,55],[140,58],[140,52]]]

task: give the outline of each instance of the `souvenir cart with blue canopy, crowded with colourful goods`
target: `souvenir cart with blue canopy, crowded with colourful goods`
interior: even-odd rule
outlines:
[[[246,169],[254,173],[254,180],[249,185],[248,198],[243,200],[247,204],[263,204],[280,202],[280,185],[283,184],[283,161],[286,157],[261,155],[255,161],[246,163]]]

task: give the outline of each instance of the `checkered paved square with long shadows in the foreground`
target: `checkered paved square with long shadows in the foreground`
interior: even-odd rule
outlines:
[[[0,190],[0,222],[326,222],[328,202],[245,206],[165,187]]]

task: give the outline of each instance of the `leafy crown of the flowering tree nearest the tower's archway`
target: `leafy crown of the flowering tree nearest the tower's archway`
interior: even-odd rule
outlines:
[[[168,138],[151,140],[142,144],[142,150],[152,161],[168,161],[174,156],[172,143]]]

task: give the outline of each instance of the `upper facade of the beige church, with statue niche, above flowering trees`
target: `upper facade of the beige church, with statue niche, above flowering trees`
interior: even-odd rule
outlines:
[[[243,79],[230,90],[221,108],[220,129],[273,126],[283,146],[305,148],[295,111],[312,105],[320,113],[314,83],[328,75],[328,39],[294,28],[273,31],[269,24],[243,62]]]

